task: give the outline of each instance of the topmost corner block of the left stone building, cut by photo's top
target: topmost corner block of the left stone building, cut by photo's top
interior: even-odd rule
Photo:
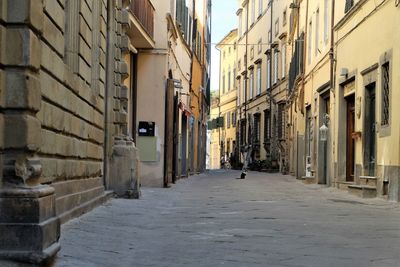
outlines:
[[[38,31],[43,29],[42,0],[3,0],[7,1],[7,23],[28,23]]]

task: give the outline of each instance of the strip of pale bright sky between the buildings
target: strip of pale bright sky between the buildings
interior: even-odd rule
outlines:
[[[211,14],[211,91],[219,87],[219,51],[215,44],[232,29],[237,28],[237,0],[212,0]]]

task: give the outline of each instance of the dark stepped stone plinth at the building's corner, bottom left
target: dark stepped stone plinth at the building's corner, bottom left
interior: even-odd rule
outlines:
[[[5,187],[0,210],[0,258],[42,263],[60,250],[53,188]]]

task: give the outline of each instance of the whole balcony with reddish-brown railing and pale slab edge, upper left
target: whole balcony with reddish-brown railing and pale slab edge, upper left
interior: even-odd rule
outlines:
[[[131,1],[127,34],[135,48],[154,48],[154,6],[150,0]]]

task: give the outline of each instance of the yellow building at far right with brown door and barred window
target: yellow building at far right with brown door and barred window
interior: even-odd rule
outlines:
[[[335,25],[335,180],[364,197],[399,201],[400,7],[338,3]]]

